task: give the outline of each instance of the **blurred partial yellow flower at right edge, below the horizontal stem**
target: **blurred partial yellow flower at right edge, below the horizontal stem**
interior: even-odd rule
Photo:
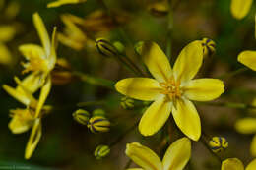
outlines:
[[[253,100],[252,105],[256,106],[256,100]],[[241,134],[255,134],[252,138],[250,152],[256,156],[256,118],[247,117],[239,119],[234,125],[236,131]]]

